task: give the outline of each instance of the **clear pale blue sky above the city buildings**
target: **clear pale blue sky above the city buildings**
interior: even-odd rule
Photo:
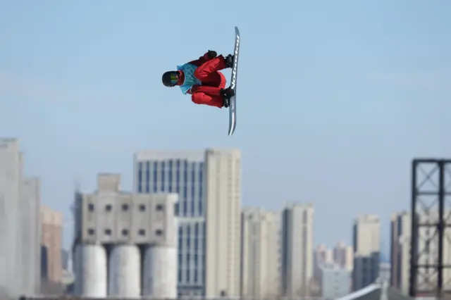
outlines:
[[[3,1],[0,136],[20,138],[26,174],[67,220],[75,178],[91,191],[118,172],[132,188],[135,151],[239,147],[243,204],[313,201],[315,243],[329,245],[377,213],[386,240],[390,213],[409,208],[411,159],[451,153],[450,15],[421,0]],[[233,51],[235,25],[228,137],[228,111],[161,74]]]

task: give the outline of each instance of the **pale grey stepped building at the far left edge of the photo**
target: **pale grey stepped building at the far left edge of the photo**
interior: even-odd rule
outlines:
[[[24,178],[18,139],[0,139],[0,297],[39,290],[39,189]]]

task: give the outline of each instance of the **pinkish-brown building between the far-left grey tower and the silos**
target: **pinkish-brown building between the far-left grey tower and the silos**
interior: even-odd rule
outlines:
[[[63,213],[41,204],[41,278],[44,282],[61,283],[63,262]]]

